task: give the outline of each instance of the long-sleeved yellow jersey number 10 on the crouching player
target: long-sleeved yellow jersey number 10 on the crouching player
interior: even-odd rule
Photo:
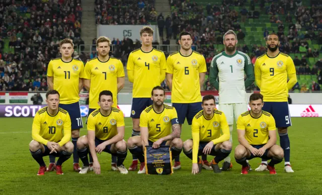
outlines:
[[[48,106],[37,111],[32,123],[32,138],[44,145],[47,145],[47,142],[56,142],[63,146],[71,138],[70,116],[62,108],[52,116],[47,108]]]

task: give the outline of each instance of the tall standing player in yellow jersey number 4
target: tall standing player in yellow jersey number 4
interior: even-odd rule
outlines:
[[[143,27],[140,36],[142,46],[130,53],[126,67],[129,81],[133,83],[132,136],[140,135],[140,114],[153,103],[150,91],[165,80],[167,68],[164,52],[152,47],[153,29]],[[137,158],[133,155],[129,171],[135,170],[137,170]]]

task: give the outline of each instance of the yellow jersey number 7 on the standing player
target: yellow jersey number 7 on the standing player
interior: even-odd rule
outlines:
[[[86,63],[84,78],[91,80],[90,108],[100,108],[99,95],[103,90],[109,90],[113,94],[113,107],[117,107],[117,78],[125,77],[121,60],[110,57],[107,61],[94,58]]]

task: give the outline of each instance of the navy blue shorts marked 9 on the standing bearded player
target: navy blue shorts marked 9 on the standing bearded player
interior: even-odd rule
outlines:
[[[292,125],[288,102],[264,102],[263,110],[273,115],[276,127]]]

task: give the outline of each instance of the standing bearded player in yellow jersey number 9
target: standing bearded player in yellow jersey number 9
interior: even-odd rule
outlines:
[[[291,126],[291,116],[288,109],[288,90],[296,84],[296,70],[292,58],[279,51],[279,37],[271,33],[266,38],[267,53],[259,56],[255,62],[255,81],[264,96],[263,110],[271,113],[276,121],[280,145],[284,150],[284,171],[293,173],[290,163],[290,140],[287,127]],[[289,81],[287,82],[287,78]],[[267,161],[255,169],[264,171]]]

